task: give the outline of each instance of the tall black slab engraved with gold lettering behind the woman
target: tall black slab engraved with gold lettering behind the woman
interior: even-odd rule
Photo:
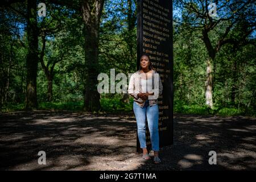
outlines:
[[[137,10],[137,68],[142,53],[150,55],[152,65],[163,84],[159,105],[159,147],[173,143],[173,52],[172,52],[172,0],[138,0]],[[146,125],[147,126],[147,125]],[[148,151],[150,133],[146,130]],[[141,152],[137,135],[137,152]]]

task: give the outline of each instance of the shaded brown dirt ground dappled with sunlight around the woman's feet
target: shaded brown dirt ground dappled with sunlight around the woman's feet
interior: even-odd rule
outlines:
[[[162,163],[136,152],[133,113],[17,111],[0,114],[1,170],[255,170],[256,119],[176,114]],[[46,165],[39,165],[39,151]],[[217,164],[210,165],[209,151]]]

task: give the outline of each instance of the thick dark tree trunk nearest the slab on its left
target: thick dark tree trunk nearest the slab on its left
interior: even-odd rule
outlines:
[[[84,110],[100,110],[100,93],[97,91],[98,44],[100,18],[103,0],[83,1],[82,18],[85,22],[85,73],[84,73]]]

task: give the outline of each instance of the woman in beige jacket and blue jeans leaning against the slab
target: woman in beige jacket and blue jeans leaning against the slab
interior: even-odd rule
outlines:
[[[159,133],[158,133],[158,96],[162,94],[163,85],[158,73],[152,67],[150,57],[143,54],[140,60],[141,69],[133,73],[130,78],[128,93],[134,97],[133,110],[137,121],[138,138],[143,150],[143,159],[150,159],[146,147],[146,118],[154,163],[161,162],[159,158]]]

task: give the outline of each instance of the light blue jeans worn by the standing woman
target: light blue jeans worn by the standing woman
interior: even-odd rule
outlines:
[[[149,101],[146,100],[143,107],[140,107],[133,102],[133,111],[137,121],[138,138],[141,148],[146,148],[146,117],[148,129],[150,131],[150,139],[152,150],[159,151],[159,133],[158,133],[158,105],[150,106]]]

